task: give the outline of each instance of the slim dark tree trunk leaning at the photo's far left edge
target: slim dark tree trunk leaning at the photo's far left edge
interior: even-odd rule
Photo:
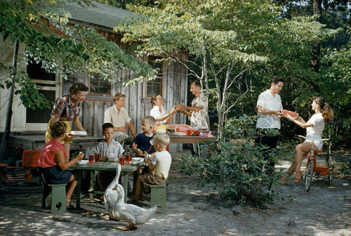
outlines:
[[[17,58],[18,58],[18,48],[20,46],[20,43],[18,39],[15,40],[15,48],[13,49],[13,60],[12,60],[12,66],[13,66],[13,71],[11,71],[11,74],[13,74],[13,77],[11,79],[12,85],[10,87],[10,90],[8,91],[8,103],[7,103],[7,110],[6,110],[6,123],[5,123],[5,131],[4,135],[2,136],[1,140],[1,145],[0,145],[0,162],[4,158],[4,152],[7,146],[8,139],[10,138],[10,133],[11,133],[11,119],[12,119],[12,104],[13,104],[13,95],[15,93],[15,79],[16,76],[15,74],[17,73]]]

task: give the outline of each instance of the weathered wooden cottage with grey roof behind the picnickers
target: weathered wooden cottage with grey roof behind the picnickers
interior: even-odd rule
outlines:
[[[71,13],[72,18],[69,20],[70,24],[81,24],[88,27],[94,27],[96,31],[105,35],[108,40],[114,41],[121,48],[126,48],[126,44],[121,43],[121,34],[113,32],[113,27],[117,22],[124,20],[126,17],[133,15],[132,12],[126,11],[113,6],[105,4],[94,3],[96,6],[89,8],[82,8],[78,4],[69,4],[65,6],[66,10]],[[11,41],[1,41],[1,58],[3,61],[11,63],[13,56],[13,44]],[[20,47],[20,56],[23,53],[24,46]],[[104,111],[114,105],[112,98],[115,93],[124,93],[126,95],[126,110],[129,112],[131,122],[135,127],[137,133],[141,132],[138,121],[150,115],[152,104],[150,98],[153,94],[160,93],[164,98],[164,107],[166,110],[171,111],[175,104],[187,103],[187,91],[189,89],[187,83],[187,69],[180,63],[155,63],[158,56],[150,55],[140,58],[153,67],[158,67],[160,73],[154,81],[139,82],[138,85],[131,87],[121,87],[117,83],[105,81],[100,79],[98,74],[94,77],[86,74],[75,74],[69,77],[68,81],[62,79],[55,74],[47,74],[40,65],[18,65],[18,70],[25,70],[28,72],[29,77],[35,83],[39,84],[44,90],[44,94],[48,100],[55,101],[56,98],[68,94],[69,86],[74,82],[82,82],[89,88],[88,96],[84,100],[81,111],[81,124],[84,129],[93,137],[101,137],[101,126],[103,122]],[[1,77],[6,76],[6,72],[1,70]],[[131,77],[131,72],[122,70],[117,72],[121,80],[126,80]],[[5,116],[6,116],[6,94],[7,91],[0,89],[0,126],[4,131]],[[13,119],[11,123],[12,136],[23,135],[44,135],[48,120],[50,119],[51,109],[47,110],[31,110],[26,109],[20,105],[20,100],[15,97],[13,103]],[[175,114],[173,117],[173,124],[185,124],[187,117],[183,114]],[[72,126],[73,127],[73,126]],[[74,127],[75,129],[75,127]],[[129,133],[130,134],[130,133]],[[40,139],[40,138],[39,138]],[[83,141],[83,139],[82,139]],[[15,146],[19,141],[12,141],[12,146]],[[23,143],[23,141],[22,141]],[[44,144],[43,144],[44,145]],[[41,144],[36,146],[41,148]],[[27,147],[29,149],[35,147]]]

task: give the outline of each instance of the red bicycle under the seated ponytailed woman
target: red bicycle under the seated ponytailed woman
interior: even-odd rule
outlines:
[[[316,163],[317,153],[321,153],[322,150],[319,150],[317,152],[313,151],[314,141],[328,141],[329,138],[322,138],[322,139],[307,138],[305,136],[300,136],[300,135],[298,135],[298,137],[305,138],[307,140],[312,140],[311,150],[307,158],[307,165],[306,165],[306,172],[305,172],[305,190],[307,192],[310,190],[313,176],[316,178],[319,178],[319,176],[327,176],[327,183],[330,185],[331,169],[329,167],[317,166],[317,163]]]

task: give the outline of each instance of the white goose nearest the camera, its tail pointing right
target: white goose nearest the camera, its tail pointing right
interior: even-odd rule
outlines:
[[[110,187],[110,186],[109,186]],[[128,226],[121,228],[121,230],[134,230],[135,225],[142,225],[150,220],[154,215],[157,205],[152,206],[150,209],[144,209],[140,206],[124,203],[124,190],[122,185],[117,183],[114,190],[117,191],[117,201],[114,203],[112,210],[112,218],[117,218],[121,221],[129,223]]]

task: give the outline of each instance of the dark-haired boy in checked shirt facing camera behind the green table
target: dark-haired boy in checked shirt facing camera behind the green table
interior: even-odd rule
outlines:
[[[98,143],[98,145],[96,145],[96,147],[94,147],[94,152],[100,154],[100,162],[106,162],[108,157],[116,157],[116,162],[118,162],[118,159],[124,152],[124,149],[119,142],[113,139],[113,124],[102,124],[102,136],[105,137],[105,140],[102,140],[100,143]],[[115,176],[116,171],[98,171],[95,181],[95,190],[105,191]],[[119,179],[119,182],[121,183],[121,178]]]

